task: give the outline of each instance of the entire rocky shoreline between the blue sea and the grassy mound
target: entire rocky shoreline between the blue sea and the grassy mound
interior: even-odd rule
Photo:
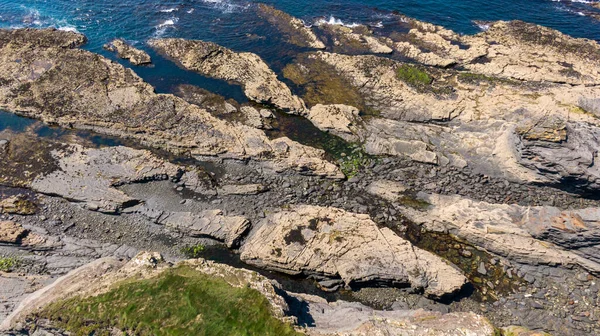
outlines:
[[[277,73],[210,42],[148,42],[246,103],[192,85],[157,94],[77,33],[0,30],[0,108],[136,144],[0,131],[7,332],[35,332],[47,303],[31,298],[90,295],[51,284],[95,263],[110,287],[111,269],[149,260],[140,251],[177,263],[217,246],[231,266],[183,263],[253,274],[274,316],[311,335],[600,332],[596,42],[524,22],[462,36],[401,15],[406,31],[379,36],[258,11],[317,50]],[[333,142],[298,136],[293,118]]]

